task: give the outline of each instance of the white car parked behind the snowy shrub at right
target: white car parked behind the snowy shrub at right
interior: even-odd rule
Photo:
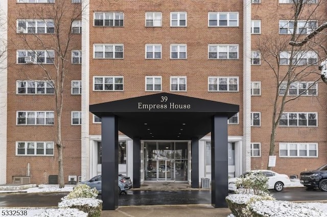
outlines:
[[[291,180],[288,177],[288,175],[285,174],[279,174],[276,172],[273,172],[271,170],[251,170],[251,173],[262,173],[268,177],[268,189],[274,189],[276,192],[283,191],[284,187],[289,187],[291,185]],[[245,176],[249,172],[243,173],[241,175]],[[235,192],[236,187],[236,181],[239,179],[237,178],[229,178],[228,179],[228,191]]]

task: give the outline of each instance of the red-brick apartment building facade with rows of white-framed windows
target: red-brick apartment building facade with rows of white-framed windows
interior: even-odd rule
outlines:
[[[0,171],[6,174],[1,183],[12,183],[15,178],[22,180],[20,177],[29,177],[31,183],[49,183],[58,175],[53,88],[57,81],[44,75],[56,72],[58,46],[53,37],[58,33],[58,24],[61,33],[72,33],[64,58],[69,63],[62,110],[66,183],[102,172],[101,161],[105,156],[101,152],[101,119],[90,113],[89,105],[156,93],[239,105],[239,113],[228,119],[228,176],[266,168],[276,84],[272,69],[262,59],[258,42],[268,36],[290,37],[294,30],[291,2],[0,3],[8,17],[3,28],[6,31],[0,32],[8,44],[6,62],[1,62],[5,66],[2,76],[6,75],[1,79],[1,100],[5,104],[0,108],[4,111],[1,146],[5,151],[0,153],[3,162]],[[306,13],[314,7],[325,13],[321,2],[310,1]],[[58,9],[58,5],[67,10],[60,23],[48,12]],[[69,14],[76,11],[80,15],[71,19]],[[310,26],[307,22],[300,26],[310,32],[310,28],[322,22],[322,17],[315,17]],[[65,37],[60,43],[63,47],[67,44]],[[284,60],[280,67],[284,71],[289,66],[288,49],[278,53]],[[305,53],[306,58],[299,58],[305,64],[299,65],[308,65],[308,71],[317,69],[324,55],[320,50]],[[52,77],[55,78],[55,73]],[[288,90],[287,98],[302,93],[301,90],[305,94],[285,107],[285,115],[278,124],[273,154],[276,172],[297,175],[326,162],[326,87],[323,83],[314,84],[317,78],[317,73],[311,73]],[[153,138],[140,143],[141,183],[190,183],[192,138]],[[199,178],[211,178],[211,135],[199,138],[198,144]],[[133,178],[133,138],[120,133],[117,146],[119,172]]]

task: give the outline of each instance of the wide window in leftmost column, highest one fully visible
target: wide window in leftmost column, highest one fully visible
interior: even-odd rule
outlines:
[[[17,33],[50,34],[55,32],[55,23],[51,19],[18,19]]]

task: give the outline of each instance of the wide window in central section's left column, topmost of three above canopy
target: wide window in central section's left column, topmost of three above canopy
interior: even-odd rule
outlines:
[[[95,12],[95,26],[124,26],[123,12]]]

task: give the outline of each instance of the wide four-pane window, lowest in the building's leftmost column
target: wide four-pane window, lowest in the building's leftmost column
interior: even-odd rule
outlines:
[[[54,155],[54,142],[16,142],[16,155]]]

